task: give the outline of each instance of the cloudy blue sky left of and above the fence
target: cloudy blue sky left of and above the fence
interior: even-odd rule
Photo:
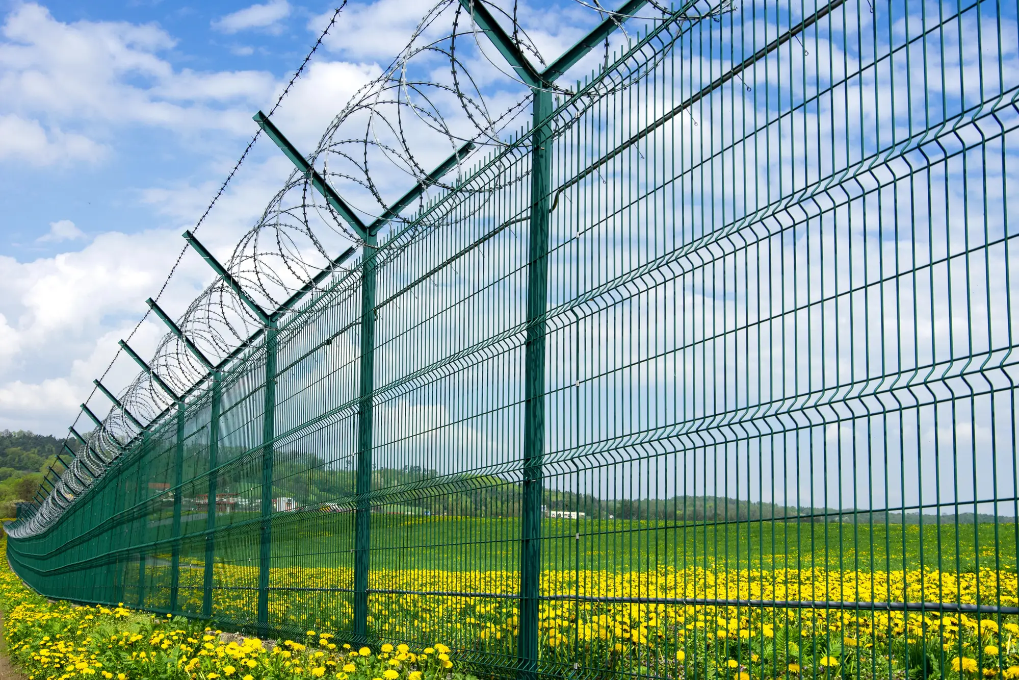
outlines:
[[[314,149],[433,5],[350,2],[276,123]],[[334,7],[0,1],[0,428],[59,433],[73,420],[255,133],[252,115],[271,107]],[[597,20],[573,2],[519,7],[548,58]],[[519,99],[491,64],[477,73],[495,109]],[[446,155],[426,149],[422,162]],[[203,242],[226,257],[291,169],[260,141]],[[393,176],[382,191],[395,197],[409,182]],[[211,278],[183,258],[161,304],[181,313]],[[131,345],[150,356],[163,332],[146,322]],[[118,391],[136,371],[117,362],[107,383]]]

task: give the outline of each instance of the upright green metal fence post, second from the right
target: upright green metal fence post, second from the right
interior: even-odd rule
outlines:
[[[361,376],[358,410],[358,509],[354,525],[354,636],[368,640],[368,572],[371,568],[372,391],[375,388],[375,237],[362,256]]]

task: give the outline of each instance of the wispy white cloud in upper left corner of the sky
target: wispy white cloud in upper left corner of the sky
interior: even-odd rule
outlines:
[[[62,22],[40,5],[16,6],[0,27],[0,160],[96,161],[125,123],[251,134],[276,79],[177,69],[162,54],[175,42],[152,24]]]

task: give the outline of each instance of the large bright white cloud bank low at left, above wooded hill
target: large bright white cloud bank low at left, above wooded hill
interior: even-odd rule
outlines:
[[[199,230],[202,243],[225,261],[291,167],[282,154],[246,164]],[[145,299],[159,292],[185,245],[181,232],[194,226],[217,186],[218,180],[142,192],[139,200],[173,224],[168,228],[107,231],[77,245],[68,240],[68,250],[75,250],[30,262],[0,257],[0,429],[57,433],[67,426],[92,393],[93,378],[116,354],[117,341],[126,338],[145,313]],[[70,237],[77,229],[60,220],[50,231]],[[201,257],[186,253],[160,306],[177,318],[213,277]],[[148,359],[165,332],[150,318],[130,345]],[[103,381],[119,393],[137,374],[138,367],[121,355]],[[101,397],[90,405],[97,414],[106,412]]]

